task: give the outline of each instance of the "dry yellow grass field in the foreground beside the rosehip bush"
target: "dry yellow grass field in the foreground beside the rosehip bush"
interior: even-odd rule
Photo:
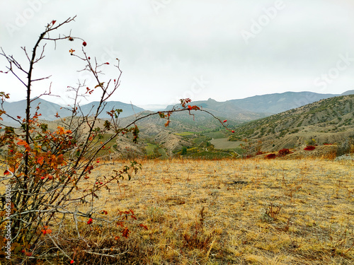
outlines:
[[[97,206],[110,218],[135,211],[137,220],[124,224],[130,236],[118,239],[115,223],[79,226],[87,245],[105,248],[95,260],[91,250],[87,264],[354,264],[353,161],[141,163],[130,181],[98,194]],[[103,165],[93,175],[121,165]],[[70,244],[76,264],[86,264],[85,244]]]

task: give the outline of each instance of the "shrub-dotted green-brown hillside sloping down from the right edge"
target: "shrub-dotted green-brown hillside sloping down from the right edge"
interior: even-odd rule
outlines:
[[[309,139],[317,143],[342,142],[354,136],[353,105],[354,95],[319,100],[236,127],[231,140],[261,140],[265,151],[292,148]]]

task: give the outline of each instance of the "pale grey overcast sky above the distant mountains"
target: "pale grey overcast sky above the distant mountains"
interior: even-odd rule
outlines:
[[[20,47],[30,51],[50,21],[77,16],[57,34],[72,30],[89,56],[110,66],[121,60],[121,86],[110,100],[146,107],[179,98],[343,93],[354,89],[353,13],[353,0],[1,0],[0,47],[27,68]],[[52,74],[52,93],[62,98],[45,100],[69,104],[67,86],[87,77],[69,54],[81,43],[47,45],[35,76]],[[0,70],[5,66],[0,58]],[[103,81],[116,78],[110,66]],[[35,83],[33,95],[48,86]],[[9,74],[0,74],[0,90],[12,101],[25,98]]]

